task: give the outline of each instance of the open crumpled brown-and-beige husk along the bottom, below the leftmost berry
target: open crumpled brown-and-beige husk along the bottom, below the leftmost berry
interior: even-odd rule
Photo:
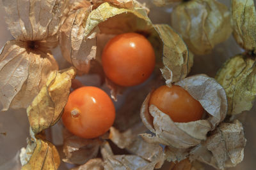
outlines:
[[[160,168],[164,162],[163,149],[158,144],[147,143],[140,138],[138,134],[143,131],[145,127],[140,123],[124,132],[111,127],[109,133],[95,139],[65,135],[63,161],[81,164],[74,169]],[[99,148],[102,157],[100,159],[96,158]]]

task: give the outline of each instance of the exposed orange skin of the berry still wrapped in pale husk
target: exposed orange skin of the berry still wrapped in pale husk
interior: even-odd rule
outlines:
[[[169,115],[173,122],[192,122],[200,120],[204,113],[202,105],[182,87],[163,85],[154,90],[150,104]]]

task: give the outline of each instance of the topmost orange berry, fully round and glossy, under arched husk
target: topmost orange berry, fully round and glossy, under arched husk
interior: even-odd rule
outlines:
[[[150,42],[134,32],[110,39],[102,52],[106,76],[116,84],[130,87],[143,83],[154,71],[156,57]]]

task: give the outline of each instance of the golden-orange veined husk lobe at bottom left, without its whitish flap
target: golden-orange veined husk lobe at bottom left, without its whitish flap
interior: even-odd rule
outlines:
[[[36,147],[23,169],[58,169],[60,155],[54,145],[42,139],[36,139]],[[31,154],[31,153],[28,153]]]

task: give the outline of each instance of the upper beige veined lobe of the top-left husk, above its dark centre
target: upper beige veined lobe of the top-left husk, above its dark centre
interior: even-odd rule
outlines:
[[[56,34],[68,12],[67,4],[67,0],[3,0],[6,23],[20,41],[38,41]]]

